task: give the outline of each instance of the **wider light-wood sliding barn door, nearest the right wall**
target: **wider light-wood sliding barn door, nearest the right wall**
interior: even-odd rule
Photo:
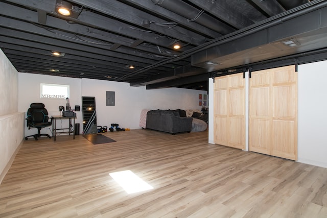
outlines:
[[[296,160],[295,66],[254,71],[249,88],[249,150]]]

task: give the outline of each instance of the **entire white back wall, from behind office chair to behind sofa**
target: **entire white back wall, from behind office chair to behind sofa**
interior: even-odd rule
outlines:
[[[70,86],[69,100],[72,108],[75,105],[81,106],[82,96],[96,97],[97,125],[108,128],[112,123],[119,124],[121,128],[140,128],[139,116],[143,109],[200,109],[198,96],[206,94],[206,91],[199,90],[181,88],[147,90],[145,86],[130,87],[129,83],[37,74],[19,73],[18,78],[20,111],[27,111],[33,102],[42,102],[50,115],[59,115],[58,107],[65,106],[66,100],[40,99],[40,83],[64,84]],[[106,91],[115,92],[115,106],[106,106]],[[76,123],[80,123],[82,133],[82,111],[77,112]],[[63,123],[64,127],[67,125]],[[25,135],[36,133],[35,129],[28,130],[27,127],[25,131]],[[49,128],[44,131],[51,133]]]

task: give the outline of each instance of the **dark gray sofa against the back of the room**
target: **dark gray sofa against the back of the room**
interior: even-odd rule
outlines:
[[[192,117],[181,117],[178,110],[150,110],[147,112],[146,128],[175,135],[191,132]]]

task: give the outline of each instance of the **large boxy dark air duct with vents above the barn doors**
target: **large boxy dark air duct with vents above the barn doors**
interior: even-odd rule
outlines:
[[[192,65],[215,71],[325,47],[327,3],[320,6],[322,8],[317,10],[301,11],[276,20],[275,25],[272,22],[258,30],[217,42],[215,46],[194,53]]]

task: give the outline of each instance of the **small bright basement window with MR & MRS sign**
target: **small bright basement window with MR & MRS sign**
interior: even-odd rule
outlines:
[[[66,99],[69,98],[69,85],[40,84],[41,99]]]

